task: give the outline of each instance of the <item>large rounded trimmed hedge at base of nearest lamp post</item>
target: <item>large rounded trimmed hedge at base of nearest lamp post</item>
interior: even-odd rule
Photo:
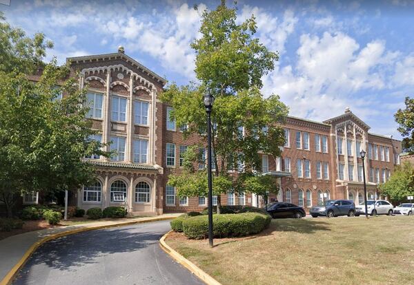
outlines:
[[[240,237],[259,233],[266,229],[272,218],[262,213],[239,213],[213,215],[213,235],[215,237]],[[182,222],[184,234],[190,239],[203,239],[208,236],[208,217],[201,215],[186,218]]]

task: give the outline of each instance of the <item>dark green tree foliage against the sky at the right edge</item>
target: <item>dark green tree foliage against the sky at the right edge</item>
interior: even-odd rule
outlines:
[[[402,134],[402,147],[409,154],[414,154],[414,99],[405,98],[405,109],[395,113],[395,121],[400,125],[398,131]]]

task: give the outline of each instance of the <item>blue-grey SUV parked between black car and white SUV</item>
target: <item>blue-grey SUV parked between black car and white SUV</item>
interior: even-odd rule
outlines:
[[[326,216],[328,218],[337,217],[338,215],[355,215],[355,204],[351,200],[326,200],[312,207],[309,211],[313,218]]]

